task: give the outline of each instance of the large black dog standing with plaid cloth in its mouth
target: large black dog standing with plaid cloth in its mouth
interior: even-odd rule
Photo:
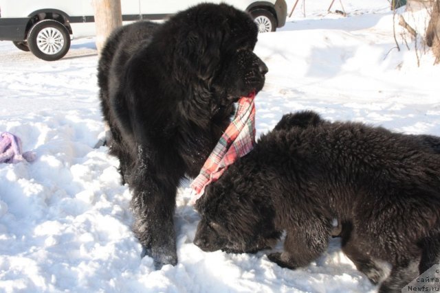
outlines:
[[[110,154],[132,191],[133,231],[156,268],[177,263],[173,214],[179,180],[195,177],[240,96],[260,91],[267,67],[245,12],[208,4],[166,23],[116,30],[98,65]]]

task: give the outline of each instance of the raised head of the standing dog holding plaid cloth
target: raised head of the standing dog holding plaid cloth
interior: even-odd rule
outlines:
[[[254,54],[258,29],[230,5],[203,3],[168,21],[175,37],[174,71],[181,82],[214,93],[219,105],[263,89],[267,67]]]

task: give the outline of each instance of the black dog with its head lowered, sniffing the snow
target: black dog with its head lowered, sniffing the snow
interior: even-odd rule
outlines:
[[[285,115],[196,202],[194,242],[206,251],[254,252],[286,231],[283,253],[269,259],[298,268],[326,250],[336,218],[355,266],[383,281],[380,292],[400,292],[439,263],[439,141],[312,112]]]

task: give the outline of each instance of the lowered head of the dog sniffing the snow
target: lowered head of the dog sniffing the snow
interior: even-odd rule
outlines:
[[[228,253],[271,248],[281,235],[274,227],[272,203],[256,196],[253,190],[241,190],[228,175],[232,174],[223,174],[219,181],[208,185],[196,202],[201,220],[194,244],[204,251]]]

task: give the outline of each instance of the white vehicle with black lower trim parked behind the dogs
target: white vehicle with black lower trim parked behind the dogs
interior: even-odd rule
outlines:
[[[285,0],[121,0],[124,23],[140,19],[159,21],[199,2],[229,3],[249,12],[259,32],[285,25]],[[92,0],[0,0],[0,40],[52,61],[63,58],[71,38],[95,35]]]

